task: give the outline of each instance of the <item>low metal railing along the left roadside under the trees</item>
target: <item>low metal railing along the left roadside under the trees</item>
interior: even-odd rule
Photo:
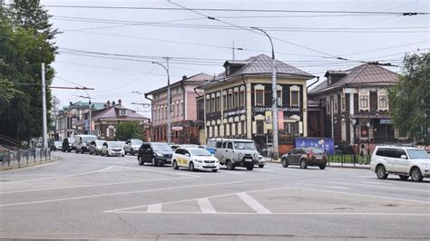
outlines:
[[[51,159],[50,149],[15,149],[0,152],[1,168],[21,167],[30,163],[44,162]]]

